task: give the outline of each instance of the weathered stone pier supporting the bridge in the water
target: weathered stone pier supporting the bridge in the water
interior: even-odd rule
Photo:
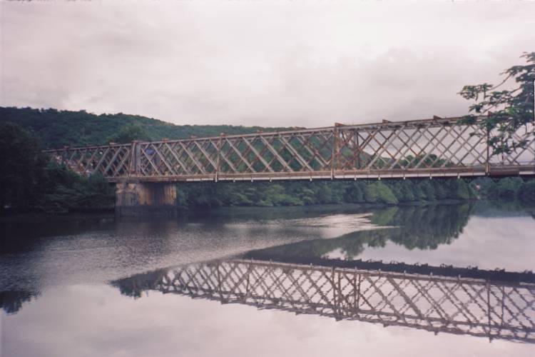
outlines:
[[[116,183],[115,211],[118,216],[171,214],[176,212],[174,183]]]

